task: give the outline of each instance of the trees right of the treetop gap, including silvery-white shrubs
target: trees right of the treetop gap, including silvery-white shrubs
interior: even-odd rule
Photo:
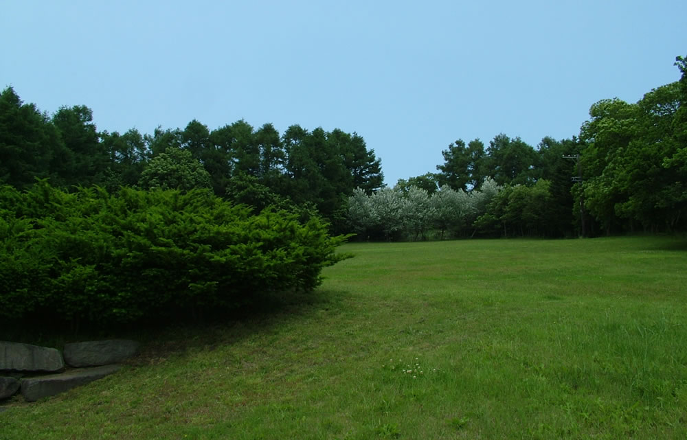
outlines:
[[[353,194],[351,227],[362,237],[387,240],[429,233],[565,237],[684,231],[687,61],[677,57],[675,65],[679,81],[649,91],[635,104],[617,98],[593,104],[579,136],[545,137],[537,148],[503,133],[488,146],[458,139],[442,150],[437,172],[399,179],[384,194]]]

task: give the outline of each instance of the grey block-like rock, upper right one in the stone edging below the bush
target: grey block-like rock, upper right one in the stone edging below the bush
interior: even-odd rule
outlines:
[[[116,364],[133,356],[138,349],[135,340],[93,340],[65,344],[65,362],[71,367],[95,367]]]

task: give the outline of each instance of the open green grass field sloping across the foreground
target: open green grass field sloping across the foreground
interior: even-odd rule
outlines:
[[[0,439],[684,439],[687,240],[347,244],[282,312],[137,337]]]

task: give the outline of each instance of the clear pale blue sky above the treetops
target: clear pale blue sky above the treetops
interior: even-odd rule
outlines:
[[[41,111],[341,128],[393,185],[455,139],[570,138],[594,102],[678,80],[687,1],[0,0],[0,41],[0,87]]]

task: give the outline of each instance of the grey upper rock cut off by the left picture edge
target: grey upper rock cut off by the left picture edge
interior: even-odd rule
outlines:
[[[57,349],[0,341],[0,370],[52,372],[63,368],[65,361]]]

